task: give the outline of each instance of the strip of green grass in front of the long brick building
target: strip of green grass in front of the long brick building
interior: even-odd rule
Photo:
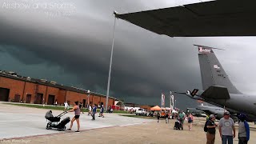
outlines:
[[[49,106],[49,105],[34,105],[34,104],[25,104],[25,103],[3,103],[6,105],[12,105],[12,106],[25,106],[25,107],[31,107],[31,108],[38,108],[38,109],[48,109],[48,110],[64,110],[64,106]],[[71,110],[72,107],[69,109]],[[100,110],[98,109],[97,112]],[[82,109],[82,112],[88,112],[88,109]],[[114,110],[113,113],[118,113],[118,114],[127,114],[126,111],[122,110]]]

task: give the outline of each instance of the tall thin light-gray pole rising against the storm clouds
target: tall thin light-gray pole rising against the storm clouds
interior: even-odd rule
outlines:
[[[113,58],[113,49],[114,49],[114,30],[115,30],[115,22],[116,22],[116,17],[114,16],[114,29],[113,29],[113,37],[112,37],[112,48],[111,48],[111,55],[110,55],[110,70],[109,70],[109,78],[107,82],[107,90],[106,90],[106,109],[107,110],[107,105],[109,102],[109,94],[110,94],[110,77],[111,77],[111,68],[112,68],[112,58]]]

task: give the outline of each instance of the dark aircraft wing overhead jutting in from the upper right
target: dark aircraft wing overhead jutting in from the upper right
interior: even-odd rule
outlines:
[[[115,16],[170,37],[255,36],[255,6],[254,0],[217,0]]]

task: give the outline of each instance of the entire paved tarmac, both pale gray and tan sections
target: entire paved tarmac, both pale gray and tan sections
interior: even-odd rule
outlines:
[[[1,103],[0,107],[0,143],[206,143],[206,134],[203,131],[205,118],[194,118],[193,129],[189,131],[186,122],[184,130],[174,130],[174,120],[166,124],[164,119],[158,123],[156,119],[128,118],[118,114],[106,114],[106,118],[98,118],[97,114],[96,121],[93,122],[90,116],[82,114],[81,132],[75,133],[76,122],[72,131],[46,130],[44,118],[46,110]],[[61,112],[53,111],[54,115]],[[73,115],[73,113],[68,114],[70,117]],[[66,126],[69,127],[70,123]],[[238,126],[236,129],[234,144],[238,143]],[[215,143],[221,143],[218,130]],[[250,123],[249,143],[256,143],[256,126],[252,123]]]

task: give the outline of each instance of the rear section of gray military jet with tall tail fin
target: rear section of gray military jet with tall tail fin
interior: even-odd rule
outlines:
[[[187,90],[190,98],[202,100],[215,106],[225,107],[233,114],[247,114],[248,122],[256,121],[256,96],[242,94],[230,82],[212,47],[198,46],[198,58],[202,77],[202,89]]]

